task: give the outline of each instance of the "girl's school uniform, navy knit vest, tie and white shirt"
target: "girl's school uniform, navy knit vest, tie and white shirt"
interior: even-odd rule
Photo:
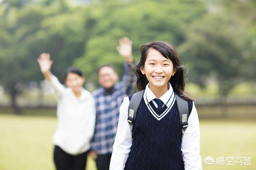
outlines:
[[[146,86],[131,133],[127,122],[130,98],[120,108],[118,130],[110,170],[201,170],[200,131],[194,102],[188,102],[190,117],[183,138],[172,86],[155,102]],[[158,106],[159,105],[159,106]]]

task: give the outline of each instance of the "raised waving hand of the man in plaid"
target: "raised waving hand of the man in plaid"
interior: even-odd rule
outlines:
[[[133,62],[132,58],[132,41],[128,37],[123,37],[119,40],[119,46],[116,47],[119,54],[129,63]]]

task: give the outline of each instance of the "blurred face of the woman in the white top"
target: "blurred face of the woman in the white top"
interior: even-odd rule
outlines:
[[[84,84],[84,77],[79,76],[78,74],[75,73],[68,73],[66,76],[66,86],[70,87],[74,93],[80,92],[81,87]]]

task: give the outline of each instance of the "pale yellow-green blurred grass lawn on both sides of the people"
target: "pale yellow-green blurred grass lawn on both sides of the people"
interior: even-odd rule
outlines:
[[[40,111],[39,111],[40,112]],[[0,114],[0,170],[54,170],[52,135],[55,116]],[[204,170],[255,170],[256,121],[201,120]],[[204,158],[252,157],[251,165],[204,165]],[[87,170],[96,170],[90,158]]]

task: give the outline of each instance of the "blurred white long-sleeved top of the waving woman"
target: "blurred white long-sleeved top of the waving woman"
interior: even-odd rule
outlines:
[[[96,110],[92,94],[81,89],[77,98],[71,88],[65,88],[55,76],[49,82],[57,98],[58,126],[53,136],[54,145],[66,153],[78,155],[90,149],[94,133]]]

